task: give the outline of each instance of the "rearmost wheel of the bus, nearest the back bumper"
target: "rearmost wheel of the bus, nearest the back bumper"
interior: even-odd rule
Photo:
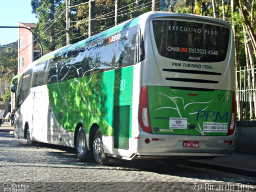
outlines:
[[[93,156],[94,160],[99,165],[106,165],[109,163],[109,157],[103,150],[102,134],[100,128],[96,131],[93,140]]]

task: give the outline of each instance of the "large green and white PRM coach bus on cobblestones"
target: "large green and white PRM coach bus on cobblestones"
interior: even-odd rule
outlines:
[[[12,86],[14,135],[76,148],[80,160],[92,152],[98,164],[227,156],[234,74],[227,22],[148,12],[28,66]]]

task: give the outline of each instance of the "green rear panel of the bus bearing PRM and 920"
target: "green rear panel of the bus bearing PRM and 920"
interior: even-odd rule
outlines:
[[[232,91],[147,86],[147,92],[154,134],[226,136],[230,124],[234,127]]]

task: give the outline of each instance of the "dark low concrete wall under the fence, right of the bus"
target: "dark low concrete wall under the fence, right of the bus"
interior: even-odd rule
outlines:
[[[236,122],[235,152],[256,154],[256,121]]]

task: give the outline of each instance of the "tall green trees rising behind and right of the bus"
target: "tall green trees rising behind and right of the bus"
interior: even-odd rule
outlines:
[[[235,46],[236,70],[255,68],[256,55],[256,0],[164,0],[165,10],[177,13],[190,13],[220,18],[232,23]],[[46,3],[44,3],[46,2]],[[91,4],[89,9],[89,2]],[[72,0],[70,20],[72,22],[72,43],[88,38],[118,23],[134,18],[154,7],[152,0]],[[46,6],[46,4],[48,6]],[[33,13],[39,19],[37,32],[44,50],[54,50],[66,44],[66,32],[60,23],[65,25],[65,0],[32,0]],[[116,8],[117,5],[117,8]],[[151,6],[150,6],[151,5]],[[49,8],[48,8],[49,7]],[[57,21],[52,12],[59,18]],[[115,15],[116,13],[116,15]],[[116,19],[115,19],[116,18]],[[243,29],[244,26],[244,29]],[[246,62],[247,61],[247,62]],[[236,74],[236,88],[239,88],[240,74]],[[255,88],[255,74],[251,71],[247,79],[250,87]],[[243,81],[243,80],[242,80]],[[252,96],[255,113],[256,93]],[[237,100],[238,118],[243,118],[243,103]],[[255,118],[256,114],[254,114]]]

